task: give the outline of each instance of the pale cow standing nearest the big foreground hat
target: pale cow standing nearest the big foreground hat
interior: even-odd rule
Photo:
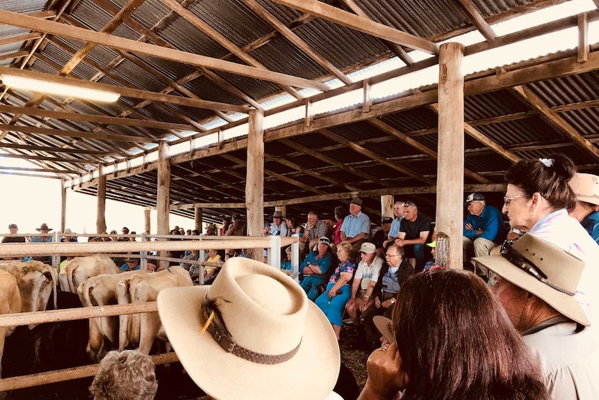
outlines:
[[[158,292],[166,287],[192,285],[188,271],[181,266],[171,266],[147,275],[133,274],[131,278],[123,279],[118,283],[117,301],[119,304],[156,301]],[[139,346],[142,353],[149,354],[162,326],[158,312],[121,315],[119,320],[119,349]]]

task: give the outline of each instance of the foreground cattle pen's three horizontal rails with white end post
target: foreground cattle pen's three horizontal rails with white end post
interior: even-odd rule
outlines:
[[[150,239],[151,235],[147,236],[148,237],[146,239]],[[156,237],[158,241],[141,242],[9,243],[0,246],[0,257],[17,257],[24,255],[47,256],[64,254],[89,255],[93,253],[110,254],[139,252],[140,257],[143,259],[143,257],[145,257],[145,253],[152,251],[166,252],[170,250],[203,251],[220,248],[266,248],[268,249],[269,260],[272,259],[270,264],[279,268],[281,247],[291,246],[293,255],[293,275],[297,276],[297,260],[299,253],[297,237],[227,237],[225,239],[222,237],[215,237],[214,239],[211,238],[209,240],[164,240],[168,238],[169,237]],[[168,257],[152,258],[158,259],[160,261],[166,261],[169,259]],[[188,262],[188,260],[185,260],[185,262]],[[200,267],[203,268],[202,264],[200,264]],[[90,319],[97,317],[112,317],[124,314],[156,312],[157,310],[158,308],[156,302],[153,301],[141,304],[108,305],[98,307],[71,308],[65,310],[4,314],[0,315],[0,327],[73,321],[77,319]],[[155,365],[178,361],[177,355],[175,353],[163,353],[152,355],[151,357]],[[55,371],[40,372],[38,374],[3,378],[0,379],[0,392],[95,376],[97,369],[98,364],[93,364]]]

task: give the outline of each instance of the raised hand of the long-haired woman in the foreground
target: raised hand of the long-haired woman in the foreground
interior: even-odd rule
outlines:
[[[408,382],[395,343],[372,351],[366,370],[368,379],[359,399],[392,399]]]

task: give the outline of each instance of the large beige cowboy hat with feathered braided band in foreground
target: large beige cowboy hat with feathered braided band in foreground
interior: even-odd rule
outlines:
[[[183,367],[214,399],[323,400],[335,386],[331,323],[272,266],[231,258],[212,285],[161,291],[158,314]]]

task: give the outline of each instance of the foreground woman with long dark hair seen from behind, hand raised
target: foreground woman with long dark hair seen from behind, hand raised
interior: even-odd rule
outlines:
[[[476,275],[433,267],[393,311],[395,343],[368,358],[359,400],[545,400],[541,366]]]

